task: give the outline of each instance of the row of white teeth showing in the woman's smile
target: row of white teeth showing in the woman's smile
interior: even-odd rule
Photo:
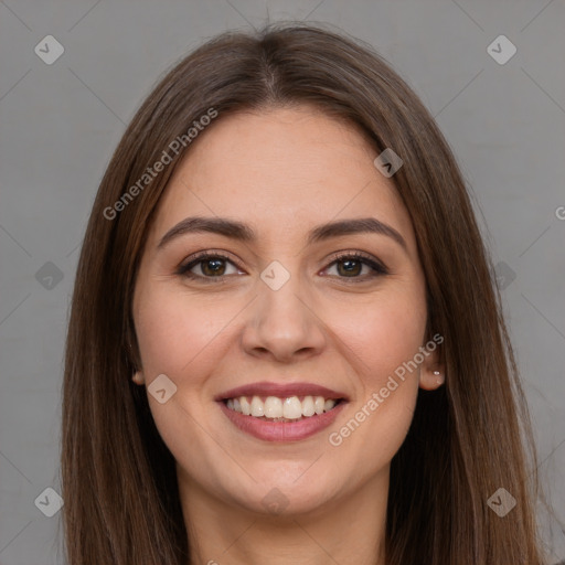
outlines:
[[[305,396],[302,402],[298,396],[286,398],[267,396],[265,402],[259,396],[254,396],[249,403],[246,396],[239,396],[238,398],[230,398],[226,405],[232,411],[256,418],[300,419],[329,412],[335,406],[335,403],[333,398],[326,399],[323,396]]]

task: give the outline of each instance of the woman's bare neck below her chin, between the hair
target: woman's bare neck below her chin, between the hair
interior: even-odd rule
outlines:
[[[259,513],[210,495],[179,469],[191,564],[384,565],[388,469],[301,514]]]

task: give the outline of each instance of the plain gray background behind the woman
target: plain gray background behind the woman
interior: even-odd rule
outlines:
[[[125,125],[204,39],[281,19],[332,23],[374,45],[457,154],[498,264],[561,524],[540,521],[553,562],[565,558],[563,0],[0,0],[2,565],[63,562],[61,513],[46,518],[34,500],[47,487],[60,491],[62,359],[78,245]],[[52,65],[34,53],[50,34],[65,50]],[[487,51],[500,34],[518,49],[503,65]]]

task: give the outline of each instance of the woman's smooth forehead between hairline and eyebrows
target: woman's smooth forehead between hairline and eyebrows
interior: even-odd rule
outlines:
[[[189,215],[242,220],[267,239],[375,216],[411,246],[409,215],[376,156],[356,128],[307,106],[218,116],[171,178],[152,236]]]

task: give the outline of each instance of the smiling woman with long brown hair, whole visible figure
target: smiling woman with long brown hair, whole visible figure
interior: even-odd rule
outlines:
[[[490,268],[446,141],[369,47],[280,26],[196,50],[82,249],[70,563],[543,563]]]

